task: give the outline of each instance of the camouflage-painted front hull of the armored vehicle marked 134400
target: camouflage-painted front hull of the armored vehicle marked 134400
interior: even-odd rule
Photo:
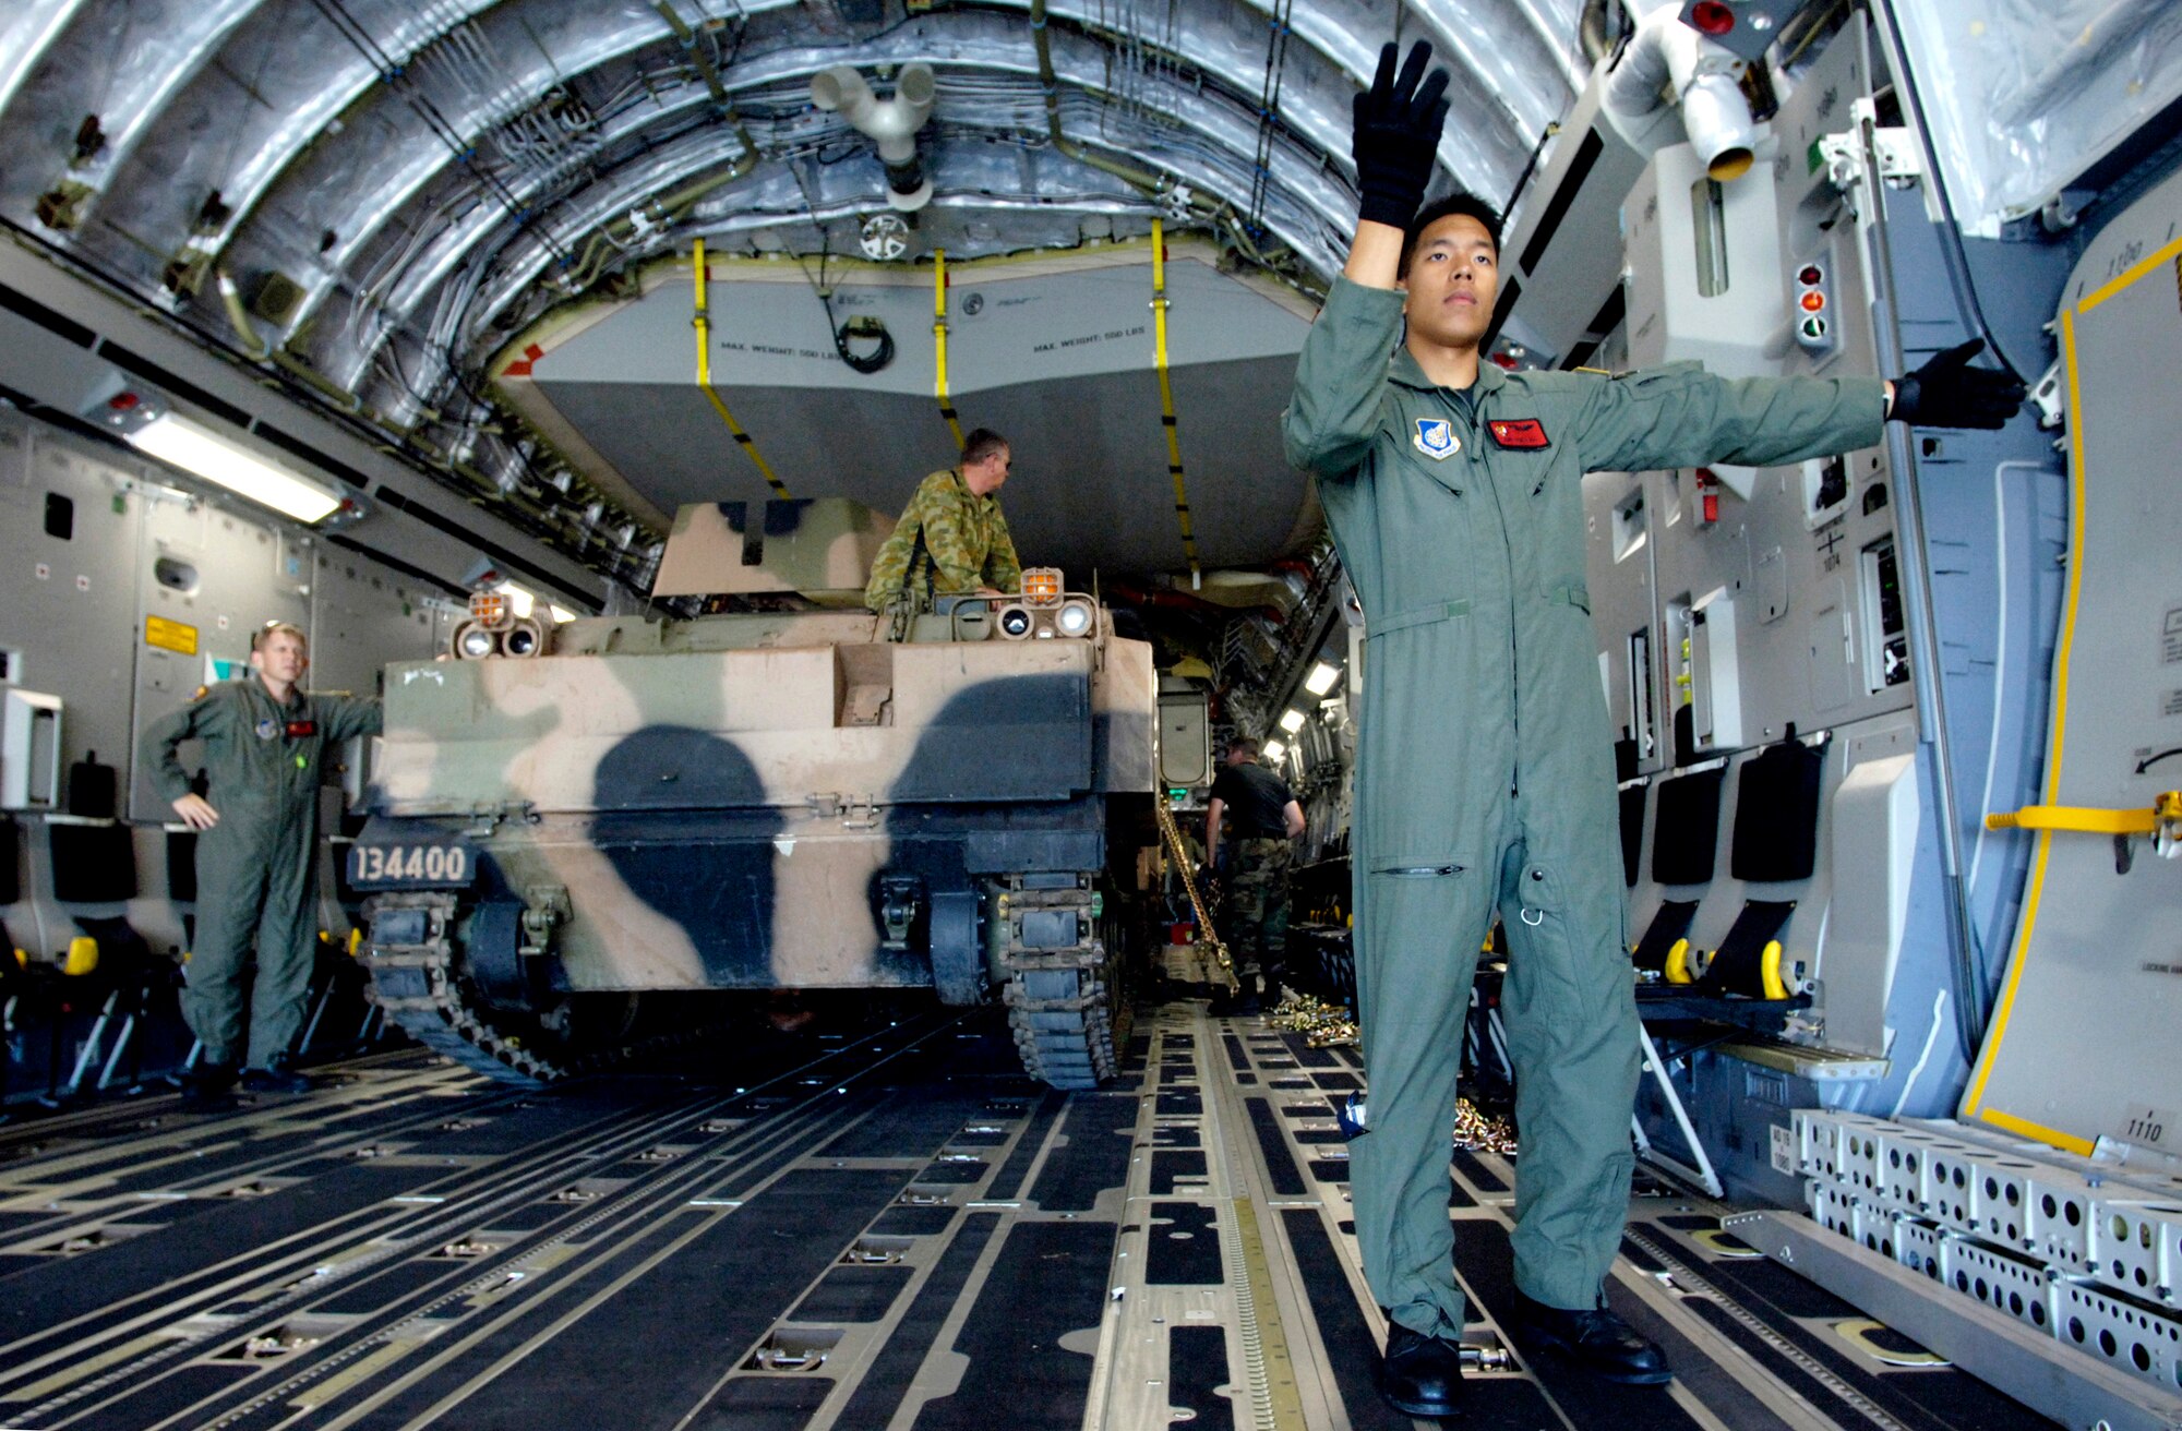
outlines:
[[[740,541],[707,517],[676,532]],[[683,569],[718,580],[687,552]],[[982,617],[884,635],[840,611],[602,617],[548,654],[388,668],[358,859],[388,851],[397,877],[367,888],[458,890],[434,905],[456,966],[515,1012],[731,988],[978,999],[1008,977],[999,892],[1032,877],[1089,905],[1113,801],[1150,798],[1152,652],[1104,615],[1082,639]],[[404,849],[467,879],[417,877]]]

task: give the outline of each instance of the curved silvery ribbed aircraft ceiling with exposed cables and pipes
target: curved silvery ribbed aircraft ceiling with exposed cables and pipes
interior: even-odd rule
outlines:
[[[1074,249],[1163,216],[1314,288],[1353,223],[1348,105],[1379,44],[1434,41],[1453,72],[1442,183],[1506,201],[1588,70],[1578,28],[1597,15],[1580,11],[15,0],[0,218],[473,500],[554,506],[576,545],[639,554],[650,517],[511,423],[491,362],[694,238],[855,255],[888,209],[886,170],[812,105],[816,72],[858,65],[884,94],[901,65],[934,70],[919,133],[934,196],[901,262]]]

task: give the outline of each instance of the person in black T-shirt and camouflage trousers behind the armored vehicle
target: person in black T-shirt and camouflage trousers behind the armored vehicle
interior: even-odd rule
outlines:
[[[1287,781],[1257,763],[1255,739],[1228,742],[1226,763],[1213,777],[1204,807],[1204,859],[1211,866],[1220,864],[1222,814],[1233,820],[1235,838],[1220,873],[1226,886],[1220,923],[1239,984],[1226,1012],[1255,1014],[1259,995],[1276,988],[1274,969],[1287,945],[1287,866],[1303,833],[1303,805]]]

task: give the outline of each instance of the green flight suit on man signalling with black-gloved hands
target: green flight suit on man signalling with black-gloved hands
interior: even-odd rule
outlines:
[[[1870,447],[1883,386],[1486,362],[1473,388],[1438,388],[1396,347],[1401,303],[1333,281],[1283,430],[1368,633],[1353,870],[1370,1132],[1351,1152],[1364,1276],[1394,1320],[1453,1337],[1449,1134],[1495,907],[1523,1137],[1516,1283],[1595,1307],[1628,1211],[1636,1001],[1582,478]]]

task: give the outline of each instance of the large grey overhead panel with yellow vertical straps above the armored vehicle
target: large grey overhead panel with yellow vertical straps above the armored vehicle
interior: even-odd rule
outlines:
[[[1220,273],[1215,251],[1172,244],[1167,349],[1202,565],[1257,565],[1311,534],[1305,480],[1281,456],[1281,408],[1309,303]],[[892,360],[842,362],[810,273],[792,262],[714,262],[711,393],[796,497],[897,513],[949,467],[938,399],[930,268],[827,275],[831,321],[884,325]],[[696,382],[687,264],[639,299],[543,323],[508,351],[500,388],[633,510],[759,502],[764,476]],[[960,425],[1015,449],[1004,493],[1023,561],[1071,569],[1185,565],[1152,345],[1143,244],[1056,260],[951,264],[947,393]],[[875,338],[851,336],[866,356]]]

